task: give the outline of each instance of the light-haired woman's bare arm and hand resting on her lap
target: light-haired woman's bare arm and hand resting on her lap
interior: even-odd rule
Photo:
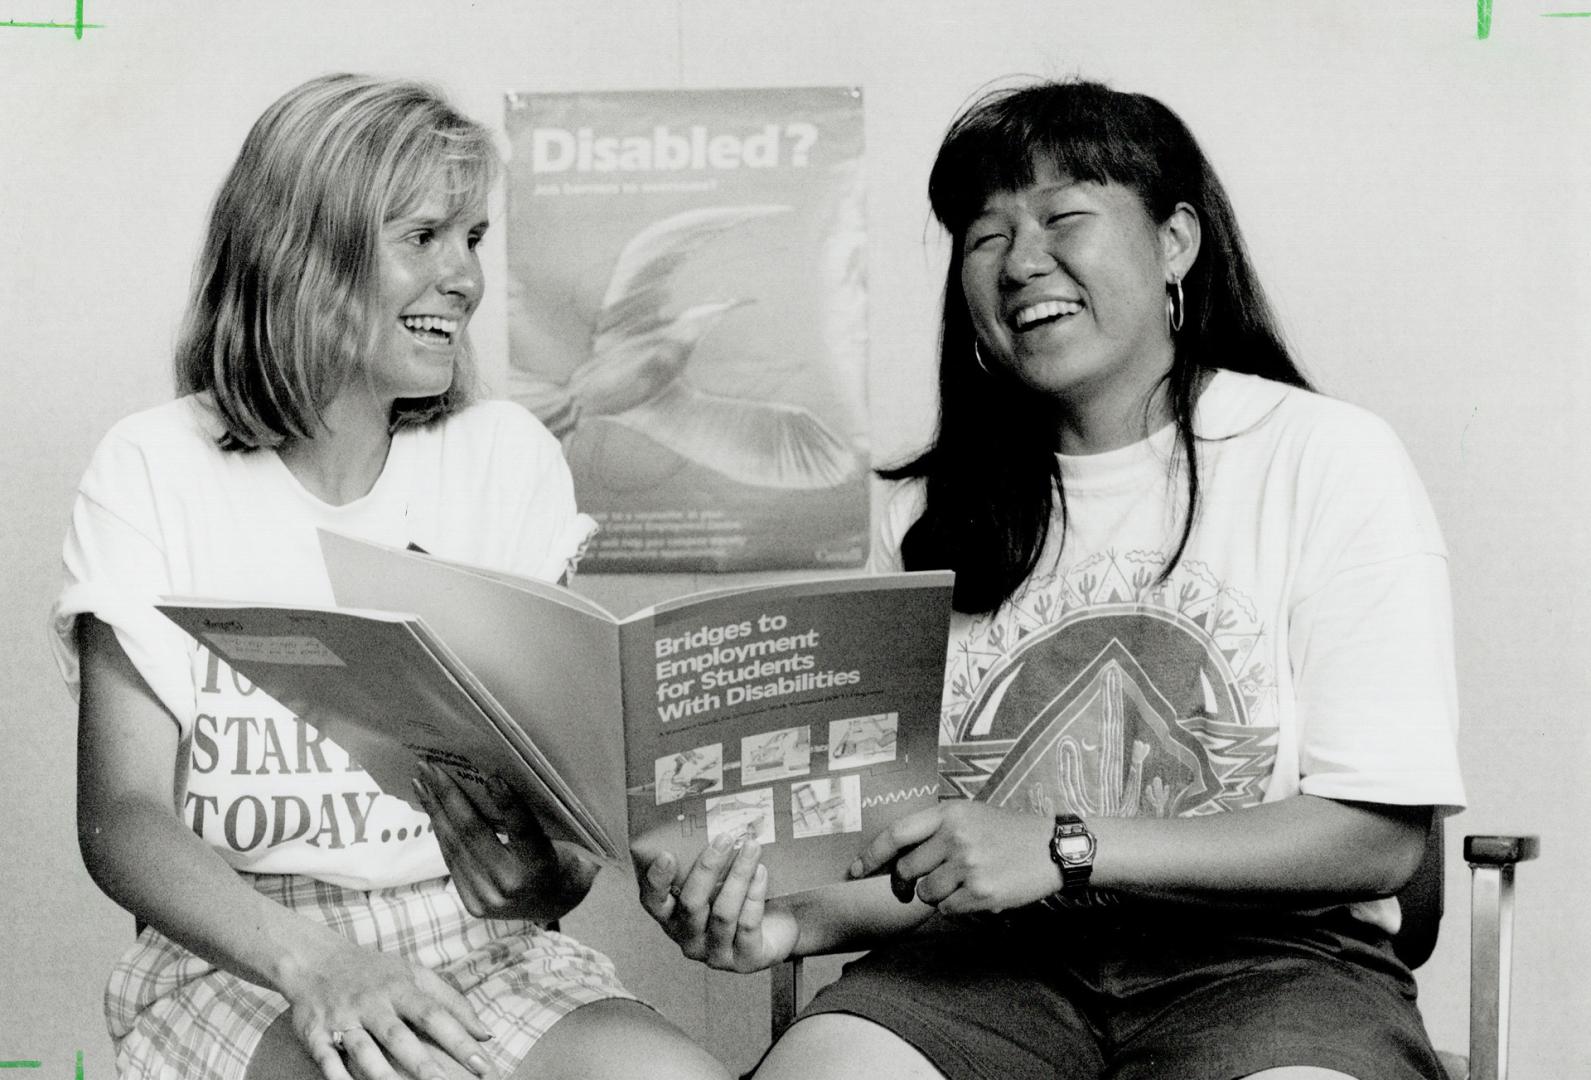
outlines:
[[[216,967],[280,991],[328,1080],[487,1075],[490,1031],[458,991],[256,892],[177,818],[177,722],[107,624],[81,617],[78,643],[78,841],[107,895]]]

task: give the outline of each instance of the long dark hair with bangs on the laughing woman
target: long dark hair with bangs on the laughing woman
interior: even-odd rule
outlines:
[[[1309,387],[1249,264],[1227,192],[1176,113],[1144,94],[1083,81],[980,97],[950,126],[928,180],[934,216],[951,237],[939,340],[939,431],[912,461],[878,471],[889,480],[926,482],[926,506],[901,554],[907,569],[955,569],[955,606],[966,612],[993,611],[1033,573],[1055,499],[1063,528],[1066,522],[1048,406],[1015,379],[982,369],[961,291],[966,226],[993,192],[1033,185],[1045,165],[1077,181],[1133,189],[1155,221],[1169,218],[1181,202],[1200,218],[1201,247],[1182,280],[1184,323],[1165,377],[1177,445],[1188,461],[1188,504],[1161,581],[1187,549],[1198,509],[1193,404],[1203,374],[1227,367]]]

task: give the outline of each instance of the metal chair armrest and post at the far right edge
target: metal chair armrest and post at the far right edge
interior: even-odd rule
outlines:
[[[1538,837],[1464,838],[1470,864],[1470,1080],[1508,1077],[1513,868],[1540,851]]]

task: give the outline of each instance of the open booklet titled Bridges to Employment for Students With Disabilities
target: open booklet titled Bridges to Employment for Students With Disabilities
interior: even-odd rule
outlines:
[[[843,880],[862,840],[937,802],[950,573],[722,589],[617,619],[546,582],[321,533],[337,608],[167,598],[161,611],[320,727],[391,795],[426,760],[495,816],[490,776],[554,837],[689,865],[764,845],[770,895]]]

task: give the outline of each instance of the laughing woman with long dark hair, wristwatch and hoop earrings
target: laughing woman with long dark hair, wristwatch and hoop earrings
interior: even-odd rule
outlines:
[[[1160,102],[991,94],[929,197],[940,423],[878,561],[956,571],[947,798],[829,894],[767,902],[746,843],[643,902],[716,967],[875,946],[764,1078],[1440,1077],[1389,945],[1464,800],[1406,453],[1308,388]]]

